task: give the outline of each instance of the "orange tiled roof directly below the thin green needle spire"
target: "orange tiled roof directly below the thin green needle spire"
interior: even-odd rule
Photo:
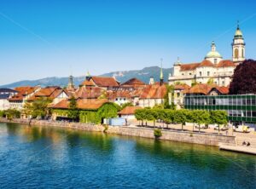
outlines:
[[[164,99],[167,89],[166,85],[148,85],[143,89],[143,94],[141,94],[141,99]]]

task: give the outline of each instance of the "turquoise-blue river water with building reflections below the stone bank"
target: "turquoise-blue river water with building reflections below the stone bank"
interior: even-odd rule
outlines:
[[[255,188],[256,157],[198,146],[0,123],[1,188]]]

